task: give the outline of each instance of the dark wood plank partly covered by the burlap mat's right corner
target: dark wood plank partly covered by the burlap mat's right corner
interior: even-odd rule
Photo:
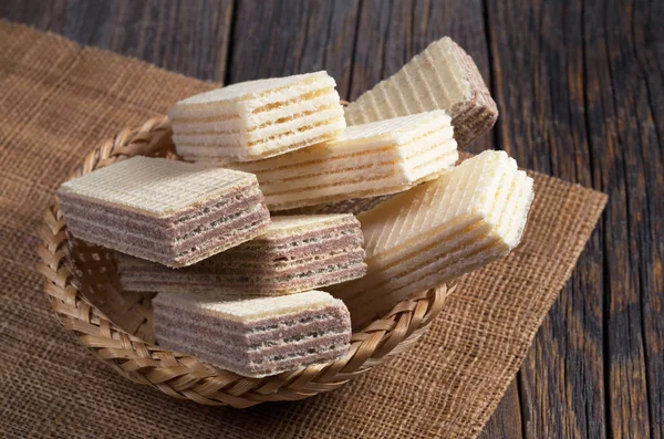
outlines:
[[[582,11],[579,1],[488,2],[498,146],[521,166],[591,186]],[[605,436],[603,275],[595,232],[520,372],[528,438]]]

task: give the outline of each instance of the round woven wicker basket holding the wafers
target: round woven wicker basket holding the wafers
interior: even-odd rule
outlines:
[[[87,155],[72,177],[136,155],[177,158],[167,118],[124,129]],[[205,405],[250,407],[333,390],[409,348],[438,315],[455,285],[442,285],[396,305],[352,336],[343,359],[266,378],[246,378],[159,348],[152,331],[151,294],[124,292],[112,252],[69,236],[58,203],[44,216],[39,247],[44,291],[60,322],[133,381]]]

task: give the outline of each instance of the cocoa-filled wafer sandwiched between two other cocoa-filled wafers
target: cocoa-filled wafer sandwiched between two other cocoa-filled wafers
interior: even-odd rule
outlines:
[[[357,279],[366,272],[352,215],[273,217],[266,233],[179,270],[116,254],[127,291],[282,295]]]

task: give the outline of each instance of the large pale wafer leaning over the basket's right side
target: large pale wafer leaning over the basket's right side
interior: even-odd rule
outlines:
[[[367,274],[330,291],[361,326],[414,293],[509,254],[532,197],[532,179],[513,159],[485,151],[360,215]]]

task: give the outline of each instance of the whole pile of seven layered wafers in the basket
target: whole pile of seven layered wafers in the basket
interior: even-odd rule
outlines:
[[[169,118],[195,164],[136,157],[58,196],[69,233],[115,250],[124,290],[158,293],[163,347],[259,378],[342,358],[353,326],[519,243],[532,180],[505,153],[455,166],[496,116],[443,39],[345,117],[326,72],[191,96]],[[357,219],[270,216],[393,194]]]

